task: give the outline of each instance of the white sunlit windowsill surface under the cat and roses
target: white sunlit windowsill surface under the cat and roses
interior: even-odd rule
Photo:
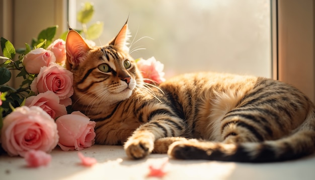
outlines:
[[[22,157],[0,156],[1,179],[158,179],[148,178],[149,165],[161,165],[166,154],[151,154],[142,160],[127,158],[122,146],[94,145],[81,151],[94,157],[92,167],[80,164],[77,151],[51,152],[48,166],[30,168]],[[235,163],[170,159],[164,179],[313,179],[315,156],[279,163]]]

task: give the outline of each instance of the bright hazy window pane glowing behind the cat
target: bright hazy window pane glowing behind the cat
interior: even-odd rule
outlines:
[[[76,3],[79,10],[86,1],[70,1],[69,7]],[[89,2],[95,6],[92,22],[105,24],[97,45],[116,36],[129,15],[130,49],[146,49],[133,51],[132,57],[154,56],[165,64],[167,77],[194,71],[272,77],[269,0]],[[71,22],[73,16],[70,26],[82,29]],[[147,36],[154,40],[139,40]]]

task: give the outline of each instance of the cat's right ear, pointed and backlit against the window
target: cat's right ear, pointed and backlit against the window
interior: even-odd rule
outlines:
[[[125,25],[121,28],[118,35],[109,43],[110,45],[116,46],[117,48],[129,52],[129,47],[127,47],[129,40],[129,29],[128,29],[128,20]]]

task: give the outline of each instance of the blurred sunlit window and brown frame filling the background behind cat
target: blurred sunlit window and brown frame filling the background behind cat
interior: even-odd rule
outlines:
[[[25,47],[47,27],[58,25],[56,38],[67,23],[82,29],[76,13],[86,2],[95,9],[91,23],[104,23],[97,45],[129,16],[131,55],[154,56],[166,78],[195,71],[264,76],[315,102],[315,0],[0,0],[0,36]]]

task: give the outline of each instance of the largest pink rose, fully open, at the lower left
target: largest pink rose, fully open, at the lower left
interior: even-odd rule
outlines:
[[[10,156],[29,150],[50,152],[58,143],[57,125],[40,107],[19,107],[3,120],[2,147]]]

